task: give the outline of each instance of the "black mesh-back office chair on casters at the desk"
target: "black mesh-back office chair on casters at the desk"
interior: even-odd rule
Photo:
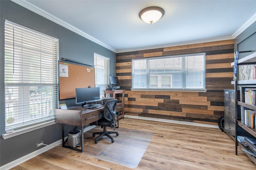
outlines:
[[[104,112],[103,112],[103,116],[102,119],[98,120],[97,125],[101,126],[101,128],[104,127],[103,132],[95,132],[92,133],[92,136],[95,137],[95,135],[100,135],[95,139],[95,143],[98,143],[98,140],[103,137],[103,136],[107,136],[111,139],[111,142],[114,143],[114,139],[112,136],[110,136],[110,134],[112,133],[116,133],[116,136],[118,136],[118,132],[116,131],[107,131],[107,127],[113,127],[113,129],[115,130],[116,127],[116,103],[117,103],[117,99],[112,99],[112,100],[108,100],[104,106]]]

